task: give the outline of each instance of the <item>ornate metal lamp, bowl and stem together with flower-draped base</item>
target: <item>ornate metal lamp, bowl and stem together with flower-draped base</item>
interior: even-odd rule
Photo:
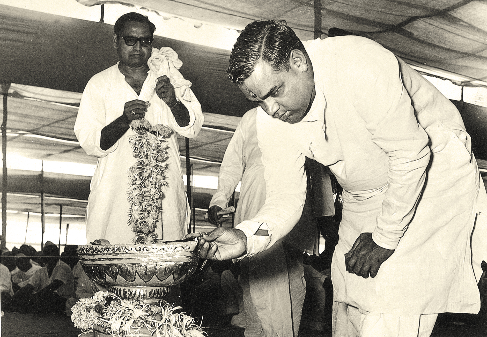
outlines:
[[[162,316],[167,315],[165,313],[172,313],[174,309],[182,309],[180,307],[172,309],[170,304],[162,298],[169,293],[170,286],[181,283],[193,274],[198,265],[198,253],[198,242],[194,239],[153,244],[78,246],[80,263],[86,275],[93,281],[92,286],[94,284],[95,292],[103,290],[112,293],[119,300],[122,300],[122,304],[125,305],[124,308],[128,310],[127,312],[137,313],[139,323],[131,330],[123,330],[125,331],[123,335],[126,337],[155,336],[155,331],[151,332],[148,328],[159,329],[154,327],[154,322],[157,322],[156,325],[162,326],[161,319]],[[98,299],[108,296],[107,293],[97,294],[102,294],[95,294]],[[109,305],[108,302],[100,300],[98,303],[100,304],[96,304],[93,309],[90,307],[87,313],[94,313],[93,310],[100,310],[96,311],[98,313],[108,310],[104,309],[104,305]],[[102,305],[101,303],[105,304]],[[141,310],[148,311],[142,312]],[[83,313],[84,310],[81,312]],[[100,323],[95,323],[93,331],[85,332],[80,337],[120,336],[120,332],[118,332],[119,334],[113,333],[113,331],[122,331],[120,330],[122,329],[120,328],[120,321],[118,321],[119,316],[116,316],[115,313],[104,315],[105,322],[117,321],[118,323],[109,323],[108,331],[104,327],[96,325]],[[125,317],[124,315],[122,316]],[[175,313],[174,315],[180,319],[180,322],[183,322],[182,324],[186,327],[183,329],[188,329],[187,331],[190,332],[184,336],[204,336],[200,334],[202,333],[200,327],[194,325],[193,318],[184,313]],[[144,317],[150,317],[150,320],[143,323],[140,319],[145,319]],[[159,317],[158,321],[154,320],[156,317]],[[189,320],[190,323],[188,323]],[[166,330],[166,328],[163,329]],[[178,327],[177,329],[181,328]],[[192,334],[195,329],[199,331],[200,335]],[[132,333],[132,331],[136,332]]]

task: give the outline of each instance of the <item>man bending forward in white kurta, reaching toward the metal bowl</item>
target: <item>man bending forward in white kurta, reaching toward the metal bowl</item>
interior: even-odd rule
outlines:
[[[289,232],[308,156],[343,187],[335,336],[429,336],[438,313],[478,312],[486,191],[446,97],[370,39],[303,45],[274,21],[246,27],[228,73],[260,106],[267,197],[255,218],[204,235],[203,257],[255,254]]]

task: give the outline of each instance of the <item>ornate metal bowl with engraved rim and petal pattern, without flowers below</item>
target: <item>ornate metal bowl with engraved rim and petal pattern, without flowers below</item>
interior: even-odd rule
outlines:
[[[190,277],[198,264],[198,242],[80,245],[86,275],[122,298],[160,299],[169,286]]]

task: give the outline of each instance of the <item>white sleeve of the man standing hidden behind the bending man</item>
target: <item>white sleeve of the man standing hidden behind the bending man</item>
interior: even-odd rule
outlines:
[[[242,180],[245,169],[244,144],[247,127],[245,120],[242,119],[228,143],[218,174],[218,189],[211,198],[210,207],[216,205],[225,208],[238,183]]]

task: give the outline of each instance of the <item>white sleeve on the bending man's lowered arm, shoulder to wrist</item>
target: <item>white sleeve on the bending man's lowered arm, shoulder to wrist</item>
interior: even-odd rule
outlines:
[[[395,249],[416,209],[430,161],[428,135],[414,114],[395,56],[370,42],[340,68],[350,98],[372,133],[372,141],[389,157],[388,190],[372,238]],[[345,63],[344,63],[345,64]]]

